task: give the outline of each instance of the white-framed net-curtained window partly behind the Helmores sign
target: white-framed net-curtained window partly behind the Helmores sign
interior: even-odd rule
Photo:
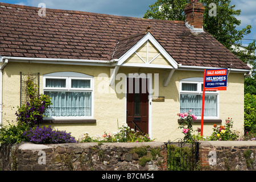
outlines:
[[[180,80],[180,113],[192,110],[192,113],[201,117],[203,100],[203,78],[186,78]],[[205,118],[218,118],[218,91],[205,92]]]

